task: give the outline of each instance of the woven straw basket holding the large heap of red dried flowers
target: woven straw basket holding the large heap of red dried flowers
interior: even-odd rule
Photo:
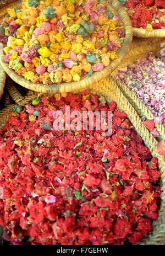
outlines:
[[[120,88],[119,88],[120,87]],[[13,82],[9,79],[7,80],[7,90],[12,97],[12,99],[23,106],[29,103],[32,99],[36,97],[36,93],[29,91],[25,97],[21,96],[17,88],[14,87]],[[81,89],[82,90],[82,89]],[[81,92],[80,89],[74,90],[74,93]],[[122,92],[123,90],[123,92]],[[147,118],[151,117],[149,110],[139,101],[138,98],[134,97],[129,90],[125,90],[116,79],[108,76],[106,79],[89,86],[89,91],[97,95],[102,95],[106,98],[107,102],[111,100],[117,103],[118,109],[123,110],[127,113],[129,120],[134,125],[135,130],[144,140],[145,145],[149,148],[153,157],[158,158],[158,168],[161,171],[161,183],[165,185],[165,158],[160,156],[156,152],[157,140],[151,134],[151,132],[142,124],[141,116],[146,115]],[[41,93],[40,93],[41,95]],[[47,94],[48,96],[48,94]],[[127,99],[127,98],[128,99]],[[131,105],[133,104],[133,105]],[[0,111],[0,128],[5,124],[9,116],[12,114],[12,108],[15,104],[9,104],[7,108]],[[134,108],[135,107],[135,108]],[[160,132],[162,138],[165,137],[164,128],[161,124],[157,125],[157,129]],[[165,200],[161,201],[161,206],[159,210],[159,218],[157,221],[152,223],[153,231],[151,234],[145,237],[140,244],[160,244],[165,239]]]

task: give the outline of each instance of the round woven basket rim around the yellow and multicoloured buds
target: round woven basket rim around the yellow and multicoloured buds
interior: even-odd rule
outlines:
[[[108,67],[105,67],[103,71],[94,73],[91,77],[83,76],[82,79],[79,82],[72,82],[72,83],[61,83],[61,84],[53,84],[52,86],[47,86],[41,83],[32,83],[31,81],[26,81],[24,77],[19,76],[17,73],[15,73],[13,70],[9,68],[8,63],[6,63],[3,60],[1,60],[2,67],[4,68],[5,72],[13,79],[13,81],[17,82],[21,86],[30,89],[35,90],[36,92],[41,93],[59,93],[59,92],[70,92],[76,89],[85,89],[91,84],[94,84],[101,79],[108,76],[108,74],[112,73],[113,70],[117,68],[120,62],[122,62],[123,58],[127,54],[127,51],[129,49],[129,46],[131,45],[132,36],[133,36],[133,29],[131,26],[130,19],[128,17],[127,12],[124,10],[122,5],[118,2],[118,0],[108,0],[109,1],[109,10],[114,10],[116,14],[119,15],[121,22],[124,25],[125,30],[125,39],[122,44],[122,47],[118,51],[118,58],[111,62],[111,65]],[[17,7],[18,8],[18,7]],[[0,34],[4,34],[3,26],[6,24],[5,20],[2,23],[2,26],[0,28]],[[0,44],[0,55],[3,56],[3,47],[4,45]]]

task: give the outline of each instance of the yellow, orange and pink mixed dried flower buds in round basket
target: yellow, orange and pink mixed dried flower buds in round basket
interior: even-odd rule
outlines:
[[[69,83],[102,71],[118,58],[125,36],[102,0],[24,0],[8,14],[4,60],[33,83]]]

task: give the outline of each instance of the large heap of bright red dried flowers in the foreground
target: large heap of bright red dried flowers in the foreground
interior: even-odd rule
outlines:
[[[3,238],[11,244],[141,241],[158,219],[157,158],[116,103],[87,90],[62,95],[14,108],[0,130]],[[66,105],[70,112],[113,111],[112,135],[53,130],[55,111],[64,113]]]

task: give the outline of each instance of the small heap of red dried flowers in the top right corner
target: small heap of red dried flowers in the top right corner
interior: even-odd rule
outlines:
[[[135,28],[165,29],[164,0],[119,0],[124,4]]]

